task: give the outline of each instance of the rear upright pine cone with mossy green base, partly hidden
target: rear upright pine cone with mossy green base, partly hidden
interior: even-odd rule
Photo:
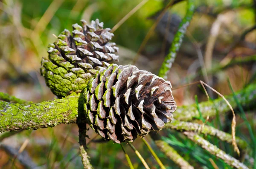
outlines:
[[[111,60],[118,60],[118,47],[110,43],[114,34],[103,29],[99,20],[88,25],[73,25],[73,36],[65,29],[54,44],[49,44],[49,59],[42,58],[41,74],[52,92],[64,97],[81,92],[97,70],[107,68]]]

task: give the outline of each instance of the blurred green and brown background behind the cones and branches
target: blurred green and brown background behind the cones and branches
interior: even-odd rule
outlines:
[[[54,35],[64,29],[72,29],[72,24],[80,23],[81,19],[88,22],[98,18],[104,22],[104,27],[113,28],[141,0],[0,0],[0,92],[6,92],[16,97],[40,102],[52,100],[55,96],[50,92],[40,76],[41,57],[47,57],[48,43],[56,40]],[[169,8],[163,19],[157,23],[155,31],[148,42],[137,54],[151,26],[156,22],[158,14],[169,1],[148,0],[135,14],[128,18],[115,32],[113,42],[119,48],[119,64],[135,64],[140,69],[157,74],[164,56],[172,42],[173,34],[181,18],[186,13],[186,1],[176,3]],[[241,40],[241,34],[256,25],[256,2],[253,0],[195,0],[196,12],[190,23],[188,32],[175,63],[169,73],[168,80],[174,88],[197,80],[206,79],[198,72],[201,69],[200,53],[205,55],[207,40],[211,36],[212,24],[222,17],[212,51],[212,65],[225,64],[229,60],[252,56],[256,54],[256,29],[246,34]],[[54,34],[54,35],[53,35]],[[230,94],[227,78],[233,89],[239,90],[252,81],[256,72],[255,61],[243,65],[234,65],[229,69],[218,70],[210,80],[211,86],[221,94]],[[192,78],[193,76],[193,78]],[[199,101],[207,100],[201,88],[193,85],[173,91],[177,105],[195,103],[195,95]],[[213,98],[216,95],[212,94]],[[256,129],[256,115],[249,113],[251,127]],[[220,117],[210,119],[212,126],[230,132],[230,118]],[[255,131],[254,131],[255,132]],[[199,146],[184,138],[177,132],[161,132],[164,139],[177,149],[178,152],[193,166],[213,169],[209,158],[212,158],[219,168],[230,168]],[[97,143],[100,137],[89,130],[92,140],[88,153],[91,163],[96,169],[128,169],[125,155],[121,147],[113,142]],[[237,135],[250,142],[247,128],[243,120],[237,117]],[[145,137],[149,143],[149,136]],[[231,146],[218,140],[210,139],[221,149],[234,155]],[[2,141],[3,144],[19,149],[27,143],[24,152],[30,160],[41,168],[83,168],[78,144],[78,128],[76,124],[58,125],[54,128],[24,131]],[[148,149],[140,139],[133,145],[143,155],[149,166],[159,168],[151,157]],[[153,148],[157,155],[169,168],[175,164]],[[125,145],[134,167],[143,168],[135,153]],[[249,155],[252,153],[249,150]],[[247,157],[245,163],[253,165],[253,159]],[[24,168],[17,160],[13,163],[12,155],[0,149],[0,167]]]

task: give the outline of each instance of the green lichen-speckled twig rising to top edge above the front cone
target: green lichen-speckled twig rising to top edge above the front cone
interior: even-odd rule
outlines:
[[[163,77],[164,79],[167,79],[167,74],[169,72],[169,69],[171,69],[172,63],[174,63],[175,57],[177,55],[177,51],[180,49],[182,39],[184,37],[184,34],[186,33],[187,27],[189,26],[189,22],[192,19],[194,10],[195,10],[194,0],[188,0],[186,15],[180,23],[179,29],[172,41],[170,52],[165,57],[165,60],[163,61],[163,64],[158,74],[158,76]]]

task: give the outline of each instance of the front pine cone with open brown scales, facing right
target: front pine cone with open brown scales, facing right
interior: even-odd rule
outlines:
[[[115,143],[161,130],[176,110],[171,83],[132,65],[99,70],[83,94],[90,127]]]

